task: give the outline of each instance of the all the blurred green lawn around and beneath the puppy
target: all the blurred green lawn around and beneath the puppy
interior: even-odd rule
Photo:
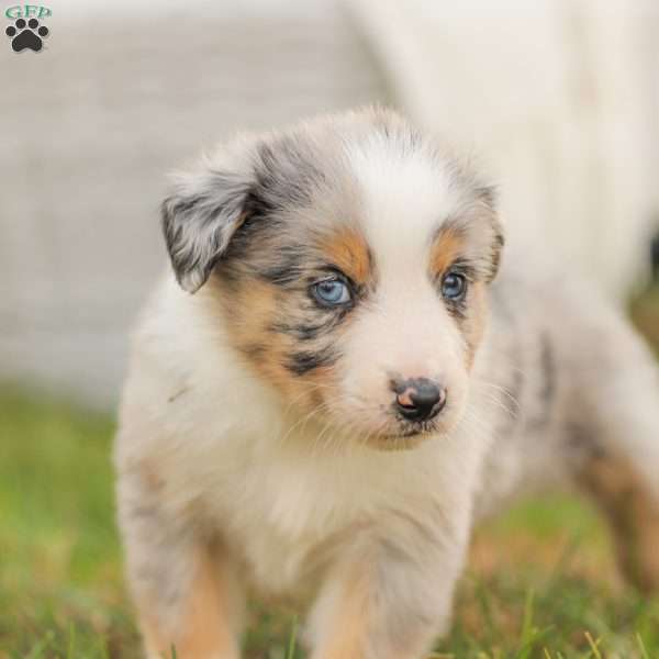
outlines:
[[[652,336],[659,291],[633,316]],[[0,389],[0,659],[139,656],[113,521],[113,428],[109,416]],[[290,615],[252,617],[247,658],[301,659]],[[584,502],[528,501],[476,534],[435,656],[659,657],[659,597],[621,582]]]

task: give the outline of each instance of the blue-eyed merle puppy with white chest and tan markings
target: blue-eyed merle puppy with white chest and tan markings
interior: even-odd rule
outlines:
[[[177,179],[115,450],[148,657],[236,659],[254,594],[308,611],[313,659],[418,659],[474,521],[547,483],[593,496],[657,585],[651,356],[567,265],[499,272],[494,205],[384,110]]]

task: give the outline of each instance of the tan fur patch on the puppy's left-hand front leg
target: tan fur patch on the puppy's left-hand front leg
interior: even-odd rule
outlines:
[[[206,551],[199,552],[178,623],[171,628],[157,624],[148,613],[153,610],[153,606],[142,606],[146,612],[142,632],[149,656],[169,657],[174,647],[180,659],[237,659],[238,650],[230,624],[228,588],[220,565]]]

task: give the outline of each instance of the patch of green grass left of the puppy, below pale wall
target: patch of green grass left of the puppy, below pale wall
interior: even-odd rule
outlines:
[[[0,657],[131,657],[112,422],[0,391]]]

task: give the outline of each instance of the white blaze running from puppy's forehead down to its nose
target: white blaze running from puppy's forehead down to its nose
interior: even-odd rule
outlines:
[[[432,237],[459,203],[448,168],[422,149],[373,138],[348,150],[359,226],[372,252],[377,291],[347,344],[346,389],[389,400],[388,372],[456,381],[461,338],[428,276]]]

